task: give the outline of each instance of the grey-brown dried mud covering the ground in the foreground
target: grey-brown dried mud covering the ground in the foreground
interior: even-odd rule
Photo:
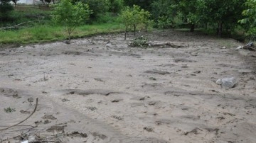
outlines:
[[[199,33],[143,34],[170,45],[110,34],[1,48],[0,143],[256,142],[255,52]],[[215,84],[225,77],[238,84]]]

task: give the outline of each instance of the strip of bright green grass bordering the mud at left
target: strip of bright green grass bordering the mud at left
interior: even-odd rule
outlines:
[[[100,33],[114,33],[122,31],[120,23],[102,23],[83,25],[75,29],[72,38],[83,38]],[[0,30],[0,45],[4,44],[29,44],[65,40],[68,33],[61,26],[38,25],[21,30]]]

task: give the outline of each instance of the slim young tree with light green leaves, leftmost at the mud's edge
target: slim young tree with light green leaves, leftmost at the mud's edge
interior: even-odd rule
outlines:
[[[53,8],[53,21],[65,26],[70,42],[71,33],[73,33],[75,28],[79,25],[85,23],[90,13],[92,13],[92,11],[90,11],[87,4],[82,4],[81,2],[72,4],[70,0],[61,0],[60,3],[56,4]]]

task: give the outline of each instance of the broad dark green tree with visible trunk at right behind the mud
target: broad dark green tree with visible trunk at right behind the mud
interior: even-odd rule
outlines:
[[[237,21],[241,19],[241,13],[245,0],[197,0],[198,16],[204,23],[217,23],[218,36],[221,37],[223,27],[235,28]]]

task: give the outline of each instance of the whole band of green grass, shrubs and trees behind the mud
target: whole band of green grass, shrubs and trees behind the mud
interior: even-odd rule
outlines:
[[[15,7],[10,1],[0,0],[0,45],[117,31],[125,31],[126,39],[129,31],[135,35],[149,25],[163,30],[199,29],[238,39],[254,39],[256,33],[255,0],[41,0],[44,6]]]

